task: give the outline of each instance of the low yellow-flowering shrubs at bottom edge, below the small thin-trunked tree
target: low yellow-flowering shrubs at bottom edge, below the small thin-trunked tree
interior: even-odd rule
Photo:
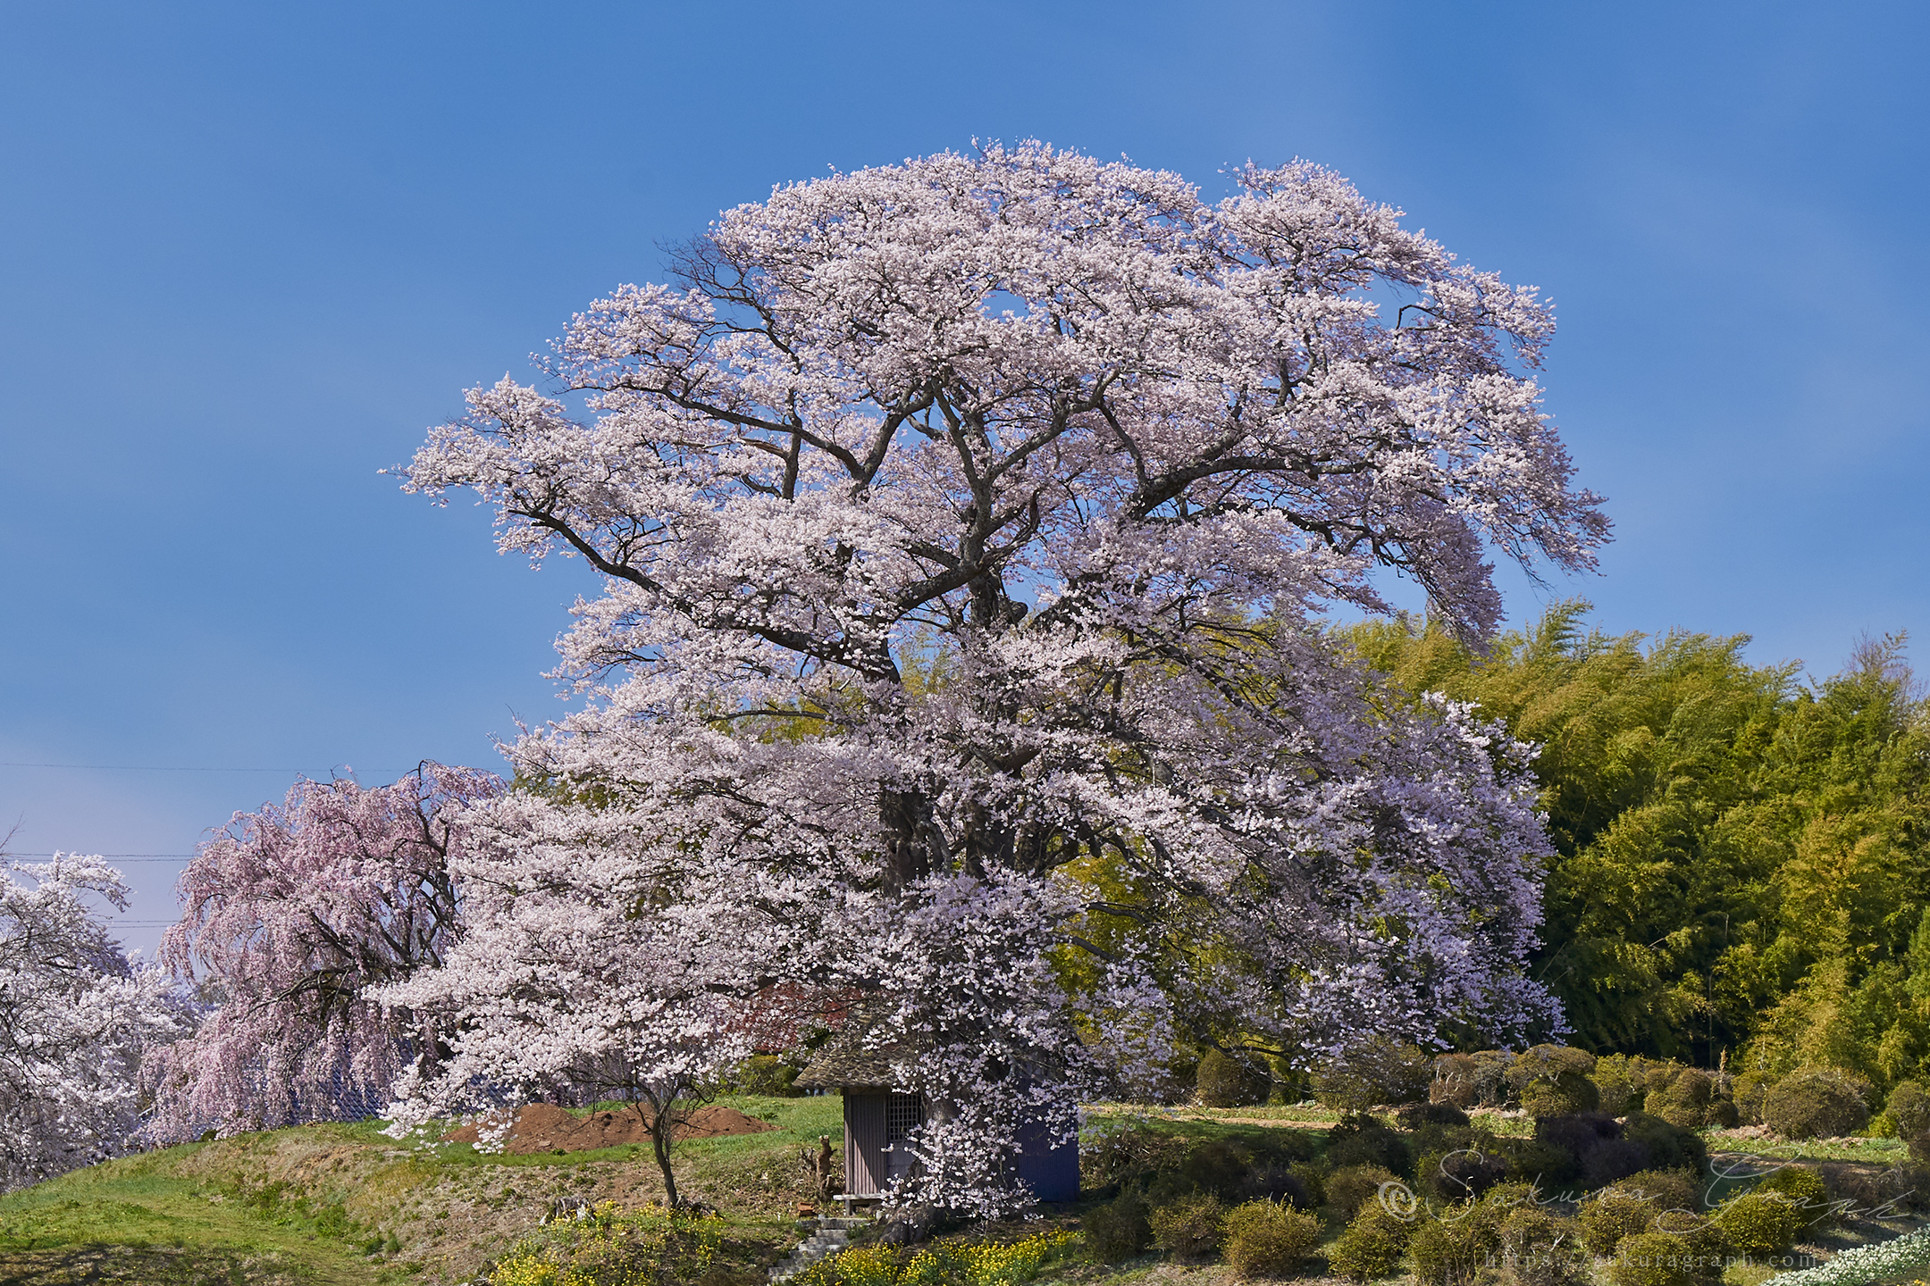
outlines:
[[[490,1273],[492,1286],[660,1286],[695,1282],[716,1259],[724,1220],[699,1215],[618,1215],[544,1224]]]

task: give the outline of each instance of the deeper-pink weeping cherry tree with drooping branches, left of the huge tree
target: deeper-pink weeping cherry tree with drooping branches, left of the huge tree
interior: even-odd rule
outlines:
[[[158,1138],[328,1120],[380,1107],[436,1033],[369,991],[444,960],[461,895],[455,816],[502,781],[423,764],[386,787],[299,781],[235,814],[181,871],[160,958],[216,1008],[149,1051]]]

